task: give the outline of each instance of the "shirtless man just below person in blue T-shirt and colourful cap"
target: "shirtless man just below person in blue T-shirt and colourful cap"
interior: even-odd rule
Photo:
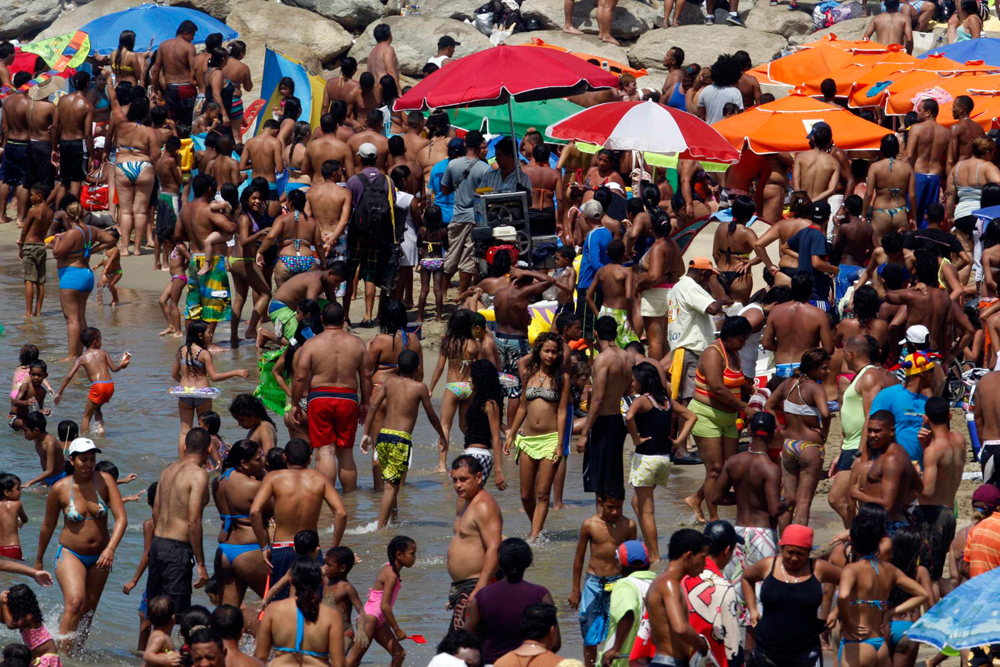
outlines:
[[[901,526],[909,525],[906,506],[924,485],[910,463],[910,455],[896,443],[896,418],[888,410],[868,417],[868,451],[875,457],[874,463],[851,489],[851,498],[884,507],[889,513],[886,527],[892,537]]]

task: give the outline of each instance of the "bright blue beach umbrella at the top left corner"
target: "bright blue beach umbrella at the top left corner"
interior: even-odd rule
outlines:
[[[123,30],[135,32],[137,49],[145,49],[150,39],[153,40],[153,48],[156,48],[161,42],[176,37],[177,26],[185,20],[194,21],[198,26],[194,35],[195,44],[204,44],[205,38],[213,32],[221,32],[224,41],[239,37],[239,33],[222,21],[196,9],[159,5],[139,5],[123,12],[107,14],[94,19],[80,30],[90,35],[91,50],[106,56],[118,48],[118,36]]]

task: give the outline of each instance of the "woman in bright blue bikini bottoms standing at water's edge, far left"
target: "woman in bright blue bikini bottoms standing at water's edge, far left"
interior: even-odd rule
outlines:
[[[69,348],[66,358],[72,361],[83,352],[80,332],[87,328],[87,297],[94,289],[94,272],[90,255],[114,245],[114,237],[99,227],[83,223],[86,212],[80,202],[66,207],[66,224],[62,234],[56,234],[52,256],[59,273],[59,305],[66,318],[66,338]]]

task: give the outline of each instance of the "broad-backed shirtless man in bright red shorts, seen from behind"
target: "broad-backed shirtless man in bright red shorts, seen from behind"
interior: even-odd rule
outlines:
[[[336,301],[323,307],[323,326],[295,355],[292,420],[306,419],[299,402],[308,394],[309,442],[319,450],[316,470],[331,484],[339,475],[341,490],[351,493],[358,486],[354,436],[365,423],[372,393],[371,357],[360,338],[344,331],[344,308]]]

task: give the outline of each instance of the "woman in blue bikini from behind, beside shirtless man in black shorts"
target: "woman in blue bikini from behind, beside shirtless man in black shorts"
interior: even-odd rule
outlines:
[[[267,565],[250,526],[250,505],[263,474],[264,449],[253,440],[237,440],[222,464],[222,475],[213,485],[215,506],[222,519],[215,578],[222,586],[223,604],[239,607],[247,588],[264,597]]]

